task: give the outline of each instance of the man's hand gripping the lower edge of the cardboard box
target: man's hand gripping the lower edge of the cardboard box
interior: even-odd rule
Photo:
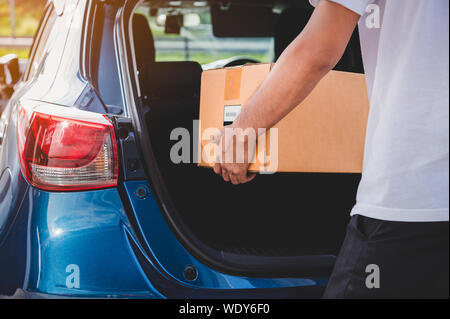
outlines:
[[[256,134],[245,133],[229,125],[213,137],[213,142],[219,146],[214,172],[233,185],[248,183],[256,176],[255,173],[248,173],[250,162],[255,156]]]

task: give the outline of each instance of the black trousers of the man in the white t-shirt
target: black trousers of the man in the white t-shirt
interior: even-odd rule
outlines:
[[[448,225],[353,216],[324,298],[448,298]]]

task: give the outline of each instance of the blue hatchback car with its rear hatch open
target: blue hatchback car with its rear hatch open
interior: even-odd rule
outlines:
[[[320,297],[360,176],[233,186],[195,162],[202,72],[275,61],[312,10],[48,1],[23,74],[0,63],[0,294]],[[357,31],[336,69],[363,72]]]

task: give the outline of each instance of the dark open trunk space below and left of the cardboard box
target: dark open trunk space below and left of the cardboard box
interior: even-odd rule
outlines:
[[[145,138],[167,220],[187,249],[240,274],[328,274],[343,241],[359,174],[277,173],[234,186],[196,163],[175,164],[175,128],[196,143],[201,67],[154,62],[143,90]],[[192,154],[191,154],[192,159]],[[313,256],[313,257],[312,257]]]

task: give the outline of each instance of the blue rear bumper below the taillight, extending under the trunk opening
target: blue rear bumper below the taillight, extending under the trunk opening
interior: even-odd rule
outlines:
[[[133,182],[129,190],[139,185]],[[183,248],[155,203],[147,203],[145,208],[140,210],[149,220],[140,218],[146,226],[136,228],[129,222],[117,189],[55,193],[29,187],[11,236],[0,247],[0,288],[7,276],[23,268],[23,283],[11,286],[9,293],[13,294],[15,287],[23,291],[14,298],[321,296],[326,278],[246,278],[215,271]],[[151,239],[145,236],[144,242],[140,238],[143,228],[148,228],[146,235],[152,234]],[[22,239],[17,234],[23,234]],[[18,267],[18,262],[2,263],[2,256],[22,252],[23,267]],[[196,267],[195,280],[183,274],[186,265]]]

